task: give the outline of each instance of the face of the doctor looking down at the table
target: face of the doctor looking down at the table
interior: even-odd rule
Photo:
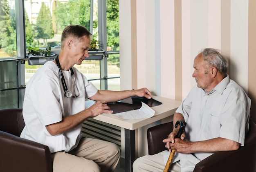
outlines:
[[[90,48],[91,38],[83,36],[81,40],[76,40],[72,42],[72,47],[70,48],[70,58],[76,65],[81,65],[86,57],[89,57],[88,49]]]

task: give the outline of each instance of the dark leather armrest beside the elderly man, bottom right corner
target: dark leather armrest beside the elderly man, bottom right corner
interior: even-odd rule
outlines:
[[[249,132],[245,137],[245,146],[235,151],[215,152],[195,165],[193,172],[243,171],[256,170],[256,124],[249,121]]]

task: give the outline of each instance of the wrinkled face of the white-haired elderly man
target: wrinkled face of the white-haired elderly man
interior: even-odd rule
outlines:
[[[207,92],[211,91],[209,90],[212,83],[211,72],[208,72],[209,68],[204,62],[202,54],[198,54],[195,57],[193,67],[195,70],[192,77],[195,78],[197,86],[207,90]]]

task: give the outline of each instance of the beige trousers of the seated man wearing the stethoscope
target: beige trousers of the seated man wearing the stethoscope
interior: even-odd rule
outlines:
[[[53,172],[113,172],[119,158],[115,143],[82,138],[74,150],[52,154]]]

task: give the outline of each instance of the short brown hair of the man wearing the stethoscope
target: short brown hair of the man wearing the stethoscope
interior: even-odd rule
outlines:
[[[88,29],[80,25],[69,25],[65,27],[61,34],[61,48],[64,47],[64,41],[66,38],[76,38],[80,42],[83,36],[87,36],[88,38],[90,38],[92,34],[90,33],[90,31],[88,31]]]

